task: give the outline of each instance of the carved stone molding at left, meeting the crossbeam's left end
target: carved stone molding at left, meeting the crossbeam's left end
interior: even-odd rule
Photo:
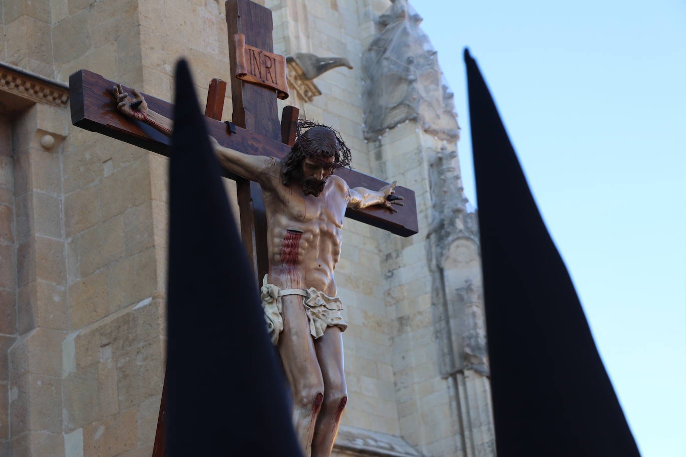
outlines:
[[[52,106],[67,106],[69,100],[69,86],[66,84],[5,63],[0,63],[0,90]]]

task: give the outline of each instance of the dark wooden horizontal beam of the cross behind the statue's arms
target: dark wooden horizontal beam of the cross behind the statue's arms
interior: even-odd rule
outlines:
[[[69,77],[71,90],[71,123],[91,132],[117,138],[125,143],[136,145],[148,151],[169,156],[170,138],[139,121],[124,116],[117,110],[112,88],[115,82],[93,73],[80,70]],[[130,92],[130,88],[125,88]],[[147,106],[151,110],[173,119],[174,106],[164,100],[143,94]],[[283,158],[290,147],[261,134],[234,126],[235,133],[228,132],[228,127],[221,121],[209,117],[205,118],[208,132],[217,139],[220,145],[235,149],[252,156],[271,156]],[[378,190],[388,184],[375,177],[359,173],[355,170],[340,169],[336,175],[342,177],[351,188],[364,187]],[[235,179],[235,175],[225,173],[226,177]],[[418,232],[416,200],[414,190],[403,186],[396,186],[395,195],[403,197],[405,206],[399,207],[399,212],[393,213],[381,206],[370,206],[362,210],[346,210],[346,217],[355,219],[388,230],[400,236],[410,236]]]

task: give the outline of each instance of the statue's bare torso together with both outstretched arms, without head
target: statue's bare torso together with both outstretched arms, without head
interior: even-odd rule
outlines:
[[[147,109],[137,90],[133,97],[121,86],[113,88],[117,108],[127,116],[145,121],[164,134],[171,134],[171,121]],[[133,102],[139,103],[132,108]],[[324,127],[327,128],[327,127]],[[282,162],[273,157],[249,156],[222,147],[210,138],[222,166],[262,187],[268,219],[268,281],[280,288],[311,288],[330,296],[337,292],[333,270],[341,252],[341,229],[348,206],[365,208],[381,205],[397,212],[390,198],[395,182],[381,190],[348,187],[340,177],[331,175],[320,195],[305,195],[300,182],[282,181]],[[338,144],[338,143],[336,143]],[[333,152],[331,152],[333,153]],[[333,160],[333,157],[331,158]]]

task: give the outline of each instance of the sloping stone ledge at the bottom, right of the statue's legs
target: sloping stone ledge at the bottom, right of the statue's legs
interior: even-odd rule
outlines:
[[[333,449],[357,456],[422,457],[400,436],[341,425]]]

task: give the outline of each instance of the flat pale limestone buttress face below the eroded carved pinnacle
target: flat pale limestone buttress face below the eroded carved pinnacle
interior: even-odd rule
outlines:
[[[397,392],[400,434],[430,456],[459,456],[459,413],[456,393],[440,376],[432,318],[431,273],[425,254],[430,223],[426,151],[442,142],[405,122],[370,142],[377,175],[386,174],[416,193],[420,234],[397,238],[378,234],[386,282],[386,306],[392,337],[392,365]],[[402,152],[400,152],[402,151]]]

